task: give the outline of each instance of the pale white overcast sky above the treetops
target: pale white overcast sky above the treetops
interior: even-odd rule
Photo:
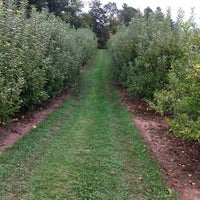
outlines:
[[[83,0],[83,2],[90,2],[89,0]],[[196,22],[200,24],[200,0],[100,0],[102,4],[107,4],[108,2],[115,2],[118,9],[126,3],[134,8],[139,8],[143,11],[146,7],[150,7],[155,10],[157,7],[161,7],[162,11],[165,12],[168,7],[171,7],[173,19],[177,16],[177,11],[182,8],[185,11],[186,18],[188,19],[191,13],[191,8],[195,8]]]

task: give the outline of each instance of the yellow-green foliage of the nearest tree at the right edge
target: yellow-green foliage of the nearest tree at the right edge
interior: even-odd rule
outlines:
[[[198,61],[200,32],[193,21],[179,23],[184,57],[172,63],[167,84],[155,92],[153,107],[161,114],[170,112],[172,130],[185,139],[200,142],[200,68]]]

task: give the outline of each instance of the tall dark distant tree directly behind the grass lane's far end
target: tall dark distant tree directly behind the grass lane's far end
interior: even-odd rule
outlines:
[[[101,7],[101,5],[102,4],[99,0],[93,0],[90,4],[90,28],[97,36],[99,48],[105,48],[106,42],[109,39],[109,23],[106,11]]]

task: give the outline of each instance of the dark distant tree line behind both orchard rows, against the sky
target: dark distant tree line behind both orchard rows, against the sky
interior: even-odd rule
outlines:
[[[3,1],[5,5],[8,2]],[[15,2],[20,7],[26,1],[15,0]],[[47,9],[49,13],[60,17],[76,29],[92,29],[97,36],[99,48],[106,47],[110,35],[115,34],[120,25],[128,26],[133,17],[140,15],[148,18],[150,13],[154,12],[150,7],[147,7],[142,13],[126,3],[123,4],[122,9],[118,9],[115,2],[108,2],[103,5],[100,0],[92,0],[88,12],[83,11],[84,3],[81,0],[28,0],[26,3],[28,15],[34,6],[39,12]],[[155,12],[160,13],[161,16],[164,15],[160,7]]]

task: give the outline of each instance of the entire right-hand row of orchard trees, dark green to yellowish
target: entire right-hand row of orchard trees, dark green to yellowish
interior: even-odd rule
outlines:
[[[200,30],[192,17],[134,17],[109,45],[118,82],[159,113],[173,114],[174,133],[200,142]]]

